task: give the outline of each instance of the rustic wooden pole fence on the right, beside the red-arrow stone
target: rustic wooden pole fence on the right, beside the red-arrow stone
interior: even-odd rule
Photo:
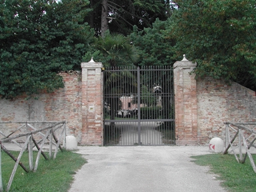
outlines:
[[[251,147],[256,148],[254,144],[256,140],[255,128],[256,123],[225,122],[226,149],[223,154],[227,154],[229,148],[231,148],[238,163],[245,163],[246,158],[249,157],[253,171],[256,173],[255,162],[250,151]],[[245,154],[243,154],[243,151],[245,151]]]

